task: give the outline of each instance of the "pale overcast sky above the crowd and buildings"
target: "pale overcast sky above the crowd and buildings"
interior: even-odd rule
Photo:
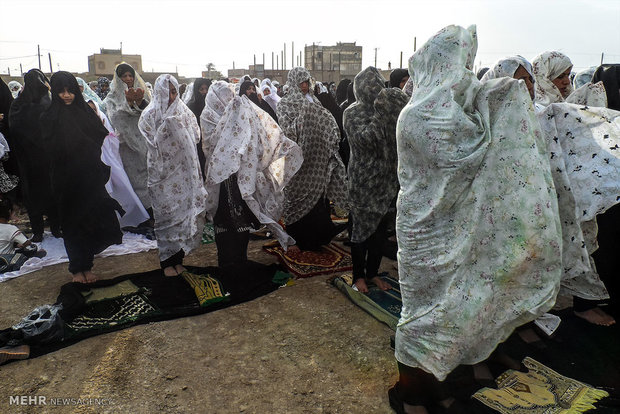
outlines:
[[[200,76],[208,62],[226,73],[262,62],[291,42],[295,54],[315,42],[357,42],[363,67],[398,67],[449,24],[478,27],[476,66],[547,50],[568,55],[579,71],[620,63],[620,0],[0,0],[0,73],[42,66],[86,72],[88,55],[119,48],[142,55],[143,69]]]

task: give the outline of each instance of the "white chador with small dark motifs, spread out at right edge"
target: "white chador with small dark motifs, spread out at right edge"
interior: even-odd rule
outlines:
[[[537,116],[562,223],[563,292],[606,299],[590,255],[598,248],[596,215],[620,200],[620,112],[555,103]]]

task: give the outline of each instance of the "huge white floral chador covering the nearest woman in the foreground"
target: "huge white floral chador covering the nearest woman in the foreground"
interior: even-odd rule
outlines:
[[[410,59],[397,124],[396,359],[439,380],[486,359],[555,303],[561,226],[523,82],[481,84],[475,27],[448,26]]]

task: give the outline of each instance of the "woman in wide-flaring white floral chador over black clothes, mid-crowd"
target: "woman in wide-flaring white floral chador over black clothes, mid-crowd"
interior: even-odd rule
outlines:
[[[278,224],[284,187],[301,167],[297,144],[234,85],[217,81],[200,117],[206,158],[207,212],[220,266],[247,259],[249,230],[265,225],[284,249],[295,244]]]

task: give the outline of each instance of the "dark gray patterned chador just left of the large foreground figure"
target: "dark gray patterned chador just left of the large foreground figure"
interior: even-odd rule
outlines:
[[[357,101],[344,111],[344,128],[351,147],[351,241],[361,243],[377,229],[398,194],[396,121],[408,96],[386,89],[374,67],[355,77],[353,89]]]

